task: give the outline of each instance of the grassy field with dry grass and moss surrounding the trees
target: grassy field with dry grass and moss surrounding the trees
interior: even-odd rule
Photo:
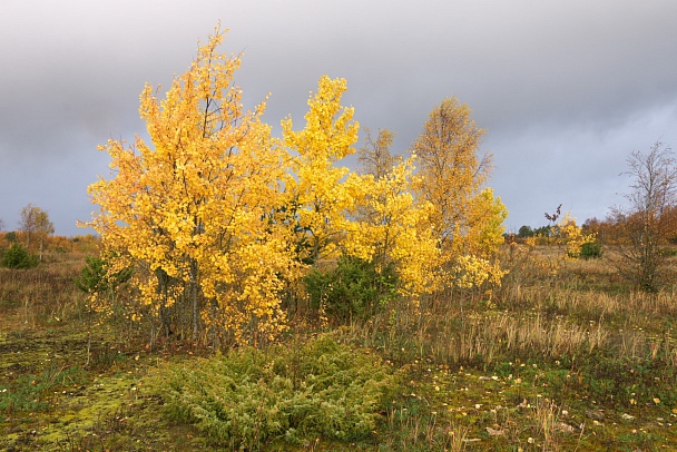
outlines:
[[[416,307],[393,302],[350,325],[292,318],[281,344],[226,356],[167,341],[150,348],[144,328],[115,316],[98,322],[73,284],[81,256],[1,268],[0,450],[677,450],[671,288],[634,292],[607,257],[562,264],[548,249],[529,256],[507,246],[504,254],[511,273],[500,288],[451,292]],[[304,356],[336,356],[326,369],[365,383],[321,380],[322,369],[308,372]],[[229,372],[219,365],[235,372],[242,360],[261,373],[228,376],[228,394],[243,389],[243,400],[258,403],[255,413],[241,413],[254,425],[246,441],[232,433],[245,430],[197,422],[170,403],[168,386],[187,396],[187,376],[199,383],[215,375],[208,372]],[[382,375],[382,386],[371,385],[364,370]],[[342,419],[290,420],[292,413],[282,422],[296,433],[276,434],[269,417],[292,406],[281,394],[288,390],[294,406],[305,403],[312,416],[328,403],[317,397],[334,396],[331,387],[313,392],[323,381],[347,384],[327,416],[342,413],[351,423],[345,416],[355,415],[355,424],[365,420],[362,430]],[[267,382],[283,390],[266,393]],[[353,404],[366,395],[355,391],[366,386],[369,397],[377,396],[357,412]],[[186,406],[199,401],[193,403]]]

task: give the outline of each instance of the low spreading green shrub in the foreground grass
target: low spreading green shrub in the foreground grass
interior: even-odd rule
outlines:
[[[302,347],[234,351],[160,369],[165,414],[228,450],[258,450],[322,435],[354,441],[376,428],[390,367],[330,336]]]

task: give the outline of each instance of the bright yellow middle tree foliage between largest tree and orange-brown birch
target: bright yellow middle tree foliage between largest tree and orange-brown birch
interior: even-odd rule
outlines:
[[[366,174],[337,166],[355,153],[357,143],[353,109],[341,106],[345,90],[345,80],[322,77],[308,100],[305,128],[293,131],[291,118],[282,122],[295,175],[287,191],[298,206],[298,229],[310,238],[310,262],[331,265],[351,256],[374,262],[377,271],[393,263],[400,293],[415,298],[430,289],[431,265],[438,257],[435,240],[424,227],[431,206],[414,203],[413,159],[390,156],[392,132],[371,143],[375,151],[361,153],[370,161]],[[370,214],[361,215],[365,212]]]

